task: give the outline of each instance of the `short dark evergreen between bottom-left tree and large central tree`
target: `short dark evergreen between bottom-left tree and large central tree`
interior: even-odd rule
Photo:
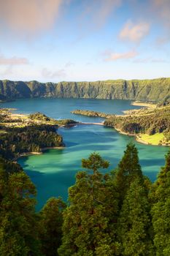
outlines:
[[[58,255],[57,249],[61,245],[63,209],[66,204],[60,198],[52,197],[40,212],[40,238],[42,252],[46,256]]]

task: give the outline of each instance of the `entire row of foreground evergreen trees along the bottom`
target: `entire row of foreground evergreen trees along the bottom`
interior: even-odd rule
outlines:
[[[0,163],[1,256],[170,255],[170,151],[153,184],[132,143],[111,172],[103,172],[107,160],[90,154],[68,202],[50,198],[40,212],[20,165]]]

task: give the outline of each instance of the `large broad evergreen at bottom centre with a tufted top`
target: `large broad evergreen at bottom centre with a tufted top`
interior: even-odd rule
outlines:
[[[58,254],[115,255],[117,198],[109,189],[108,176],[98,170],[109,162],[94,153],[82,159],[82,166],[93,173],[77,173],[76,184],[69,189],[70,206],[63,214],[63,243]]]

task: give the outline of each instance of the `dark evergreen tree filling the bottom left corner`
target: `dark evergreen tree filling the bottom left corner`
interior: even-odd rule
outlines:
[[[0,170],[0,255],[41,255],[35,214],[36,190],[26,173]]]

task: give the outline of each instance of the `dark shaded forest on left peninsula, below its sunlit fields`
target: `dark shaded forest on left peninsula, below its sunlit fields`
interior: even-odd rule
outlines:
[[[0,137],[0,156],[6,159],[21,153],[40,152],[41,148],[63,146],[61,135],[50,125],[6,128]]]

